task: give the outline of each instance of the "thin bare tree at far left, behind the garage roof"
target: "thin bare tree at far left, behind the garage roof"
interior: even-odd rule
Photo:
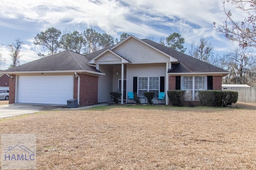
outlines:
[[[15,43],[12,45],[9,45],[11,48],[11,53],[10,56],[12,58],[12,64],[10,65],[9,68],[16,67],[17,65],[20,65],[20,49],[24,43],[20,41],[20,39],[16,39]]]

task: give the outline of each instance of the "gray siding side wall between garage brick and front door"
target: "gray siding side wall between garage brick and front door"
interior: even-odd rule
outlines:
[[[106,75],[100,75],[98,81],[98,103],[109,102],[112,91],[113,66],[99,65],[99,70]]]

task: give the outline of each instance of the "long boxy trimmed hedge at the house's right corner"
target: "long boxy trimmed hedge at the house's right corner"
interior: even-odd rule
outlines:
[[[204,90],[199,91],[200,103],[203,106],[226,107],[236,103],[237,91]]]

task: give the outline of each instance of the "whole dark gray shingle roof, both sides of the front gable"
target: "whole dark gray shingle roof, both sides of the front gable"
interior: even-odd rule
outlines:
[[[228,71],[168,48],[159,43],[151,40],[143,39],[143,42],[155,47],[156,49],[178,59],[178,64],[172,64],[172,69],[168,70],[168,73],[216,73]],[[106,49],[111,49],[114,45],[100,49],[93,53],[82,55],[79,53],[72,52],[70,50],[63,51],[48,57],[44,57],[29,63],[13,67],[7,71],[70,71],[70,70],[87,70],[87,71],[98,71],[95,67],[88,64],[88,61],[104,52]]]

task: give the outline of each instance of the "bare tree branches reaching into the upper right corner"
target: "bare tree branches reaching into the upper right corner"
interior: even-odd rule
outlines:
[[[246,12],[248,17],[243,21],[236,21],[232,12],[226,10],[225,4],[230,3],[234,8]],[[255,0],[224,0],[224,14],[226,19],[222,24],[214,22],[214,30],[224,34],[226,38],[240,43],[241,47],[256,47],[256,1]]]

